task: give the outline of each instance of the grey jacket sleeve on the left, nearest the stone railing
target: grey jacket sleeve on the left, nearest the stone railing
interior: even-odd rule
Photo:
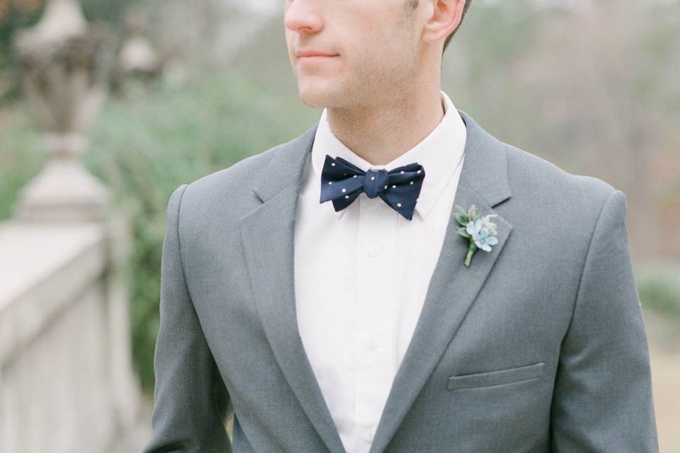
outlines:
[[[229,395],[184,277],[179,212],[186,187],[174,190],[167,207],[154,353],[153,434],[143,453],[231,453],[225,429]]]

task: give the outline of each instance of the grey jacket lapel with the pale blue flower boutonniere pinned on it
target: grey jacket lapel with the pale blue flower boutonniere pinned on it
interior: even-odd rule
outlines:
[[[395,435],[487,280],[512,229],[493,209],[510,197],[502,144],[467,113],[458,112],[465,121],[467,139],[454,204],[466,210],[474,204],[482,215],[497,214],[492,221],[497,224],[498,243],[489,253],[477,250],[470,267],[465,267],[468,242],[455,233],[460,225],[453,217],[455,210],[452,211],[423,309],[392,383],[369,453],[382,453]]]

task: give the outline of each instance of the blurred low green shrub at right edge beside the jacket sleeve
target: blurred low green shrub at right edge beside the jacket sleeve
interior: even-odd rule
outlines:
[[[680,323],[680,263],[646,264],[635,275],[642,306]]]

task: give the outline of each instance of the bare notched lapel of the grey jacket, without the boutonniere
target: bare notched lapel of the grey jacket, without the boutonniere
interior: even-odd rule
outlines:
[[[263,201],[240,220],[246,266],[265,335],[300,406],[332,453],[344,453],[297,328],[294,226],[302,171],[316,125],[283,145],[263,168],[254,192]]]

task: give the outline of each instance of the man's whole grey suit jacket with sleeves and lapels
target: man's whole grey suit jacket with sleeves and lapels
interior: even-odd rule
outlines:
[[[657,452],[625,195],[459,113],[455,203],[497,214],[499,242],[467,268],[450,220],[370,453]],[[344,452],[295,316],[317,125],[172,193],[144,452]]]

